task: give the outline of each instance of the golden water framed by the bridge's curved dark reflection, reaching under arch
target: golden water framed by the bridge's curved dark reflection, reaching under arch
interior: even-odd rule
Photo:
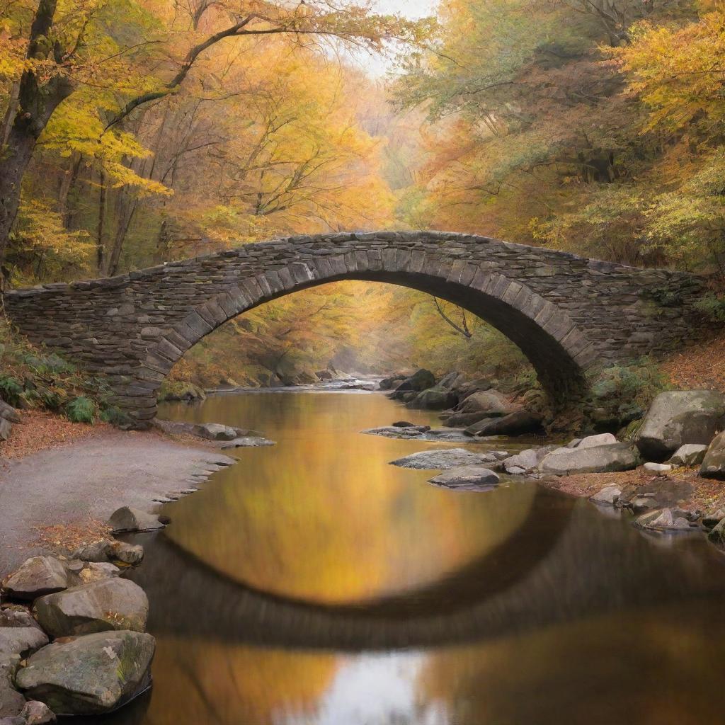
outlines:
[[[426,483],[433,472],[389,465],[442,446],[361,435],[401,415],[436,423],[379,394],[250,394],[243,405],[218,396],[204,402],[203,415],[261,430],[277,445],[233,454],[238,465],[170,507],[166,533],[270,594],[339,605],[425,587],[505,542],[535,495],[531,486],[483,495],[435,489]]]

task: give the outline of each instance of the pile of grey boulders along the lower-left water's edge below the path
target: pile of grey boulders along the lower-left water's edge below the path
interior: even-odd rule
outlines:
[[[155,641],[144,633],[146,594],[117,578],[110,565],[89,565],[96,567],[96,580],[72,586],[85,566],[38,557],[4,580],[2,595],[11,600],[9,584],[22,581],[22,600],[28,601],[30,592],[47,587],[49,571],[62,587],[36,597],[32,613],[12,602],[0,605],[0,718],[12,718],[12,725],[107,713],[149,687]],[[56,641],[49,644],[49,637]]]

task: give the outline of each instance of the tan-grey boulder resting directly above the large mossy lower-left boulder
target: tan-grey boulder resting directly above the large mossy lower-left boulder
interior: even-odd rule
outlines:
[[[144,631],[149,600],[138,584],[129,579],[103,579],[66,589],[35,604],[36,617],[53,637],[130,629]]]

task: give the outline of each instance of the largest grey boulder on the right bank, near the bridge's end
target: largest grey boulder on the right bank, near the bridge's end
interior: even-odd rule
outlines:
[[[662,461],[686,443],[707,445],[725,428],[725,394],[714,390],[660,393],[637,434],[648,460]]]

